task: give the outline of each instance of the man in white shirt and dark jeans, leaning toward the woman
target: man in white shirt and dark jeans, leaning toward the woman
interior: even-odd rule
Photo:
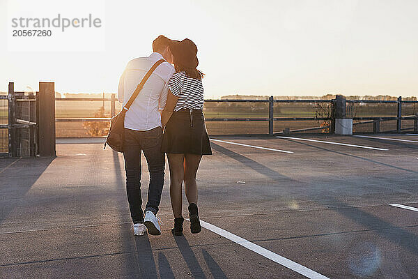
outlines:
[[[161,234],[160,225],[155,217],[164,185],[165,166],[164,153],[161,151],[162,127],[159,111],[162,111],[167,103],[167,84],[171,75],[175,73],[171,65],[170,41],[162,35],[158,36],[153,41],[153,53],[127,63],[119,80],[118,100],[125,105],[153,64],[160,59],[168,61],[160,64],[150,75],[125,115],[123,157],[126,193],[136,236],[144,235],[147,229],[149,234]],[[141,198],[141,151],[144,151],[150,173],[145,217]]]

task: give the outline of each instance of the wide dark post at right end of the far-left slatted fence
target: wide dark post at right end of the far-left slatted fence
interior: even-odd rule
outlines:
[[[56,156],[54,82],[39,82],[38,103],[39,156],[54,157]]]

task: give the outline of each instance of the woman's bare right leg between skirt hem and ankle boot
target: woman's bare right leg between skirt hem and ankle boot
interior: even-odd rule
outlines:
[[[196,154],[186,154],[185,156],[185,193],[189,204],[197,204],[196,173],[202,156]]]

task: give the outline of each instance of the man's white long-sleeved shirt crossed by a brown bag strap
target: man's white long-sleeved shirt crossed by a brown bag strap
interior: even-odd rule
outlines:
[[[137,85],[155,62],[164,59],[160,53],[153,52],[148,57],[132,59],[127,63],[118,86],[118,101],[126,105]],[[151,130],[161,127],[161,114],[167,103],[168,83],[175,73],[169,62],[161,63],[139,92],[130,109],[125,114],[125,128],[132,130]]]

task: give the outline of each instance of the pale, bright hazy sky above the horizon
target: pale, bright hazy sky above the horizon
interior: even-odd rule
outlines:
[[[205,98],[418,96],[416,0],[95,3],[104,10],[101,47],[17,52],[4,43],[11,22],[7,0],[0,0],[0,91],[7,91],[8,82],[15,82],[16,91],[37,90],[42,81],[55,82],[61,93],[115,93],[127,62],[148,56],[153,39],[164,34],[196,43]],[[95,13],[94,7],[75,8]]]

